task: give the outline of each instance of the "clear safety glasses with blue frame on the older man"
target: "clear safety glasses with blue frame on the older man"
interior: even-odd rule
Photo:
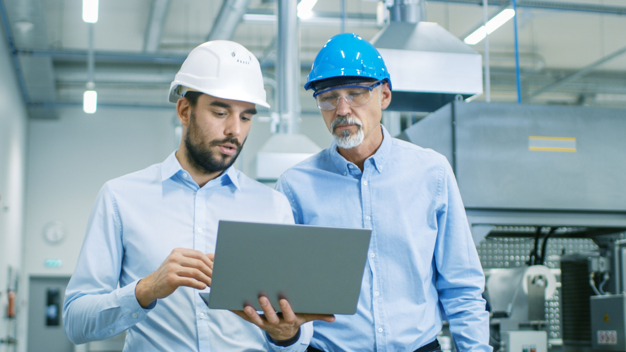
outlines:
[[[369,86],[334,86],[325,90],[316,91],[313,97],[317,101],[317,107],[322,110],[335,110],[339,105],[339,99],[346,100],[347,105],[352,107],[363,106],[372,100],[372,90],[381,85],[382,81],[376,81]]]

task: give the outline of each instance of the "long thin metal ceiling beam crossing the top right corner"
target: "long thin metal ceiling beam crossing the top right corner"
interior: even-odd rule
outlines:
[[[475,4],[483,5],[483,0],[430,0],[441,1],[444,3],[459,3],[459,4]],[[509,0],[488,0],[490,5],[503,6]],[[604,5],[604,4],[590,4],[590,3],[574,3],[572,1],[545,1],[545,0],[518,0],[518,8],[537,8],[537,9],[551,9],[551,10],[564,10],[564,11],[582,11],[588,13],[603,13],[603,14],[626,14],[626,6],[616,5]]]

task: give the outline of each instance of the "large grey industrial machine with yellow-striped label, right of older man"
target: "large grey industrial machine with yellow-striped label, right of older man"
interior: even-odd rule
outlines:
[[[495,351],[626,351],[624,116],[458,96],[399,135],[453,167]]]

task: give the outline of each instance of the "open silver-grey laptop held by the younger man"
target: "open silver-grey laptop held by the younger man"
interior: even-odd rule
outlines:
[[[354,314],[367,263],[370,229],[220,220],[209,292],[211,309]]]

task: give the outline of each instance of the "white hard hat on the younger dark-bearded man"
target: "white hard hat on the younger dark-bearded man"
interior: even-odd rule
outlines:
[[[176,103],[190,90],[270,107],[259,60],[234,41],[207,41],[189,53],[170,85],[170,101]]]

